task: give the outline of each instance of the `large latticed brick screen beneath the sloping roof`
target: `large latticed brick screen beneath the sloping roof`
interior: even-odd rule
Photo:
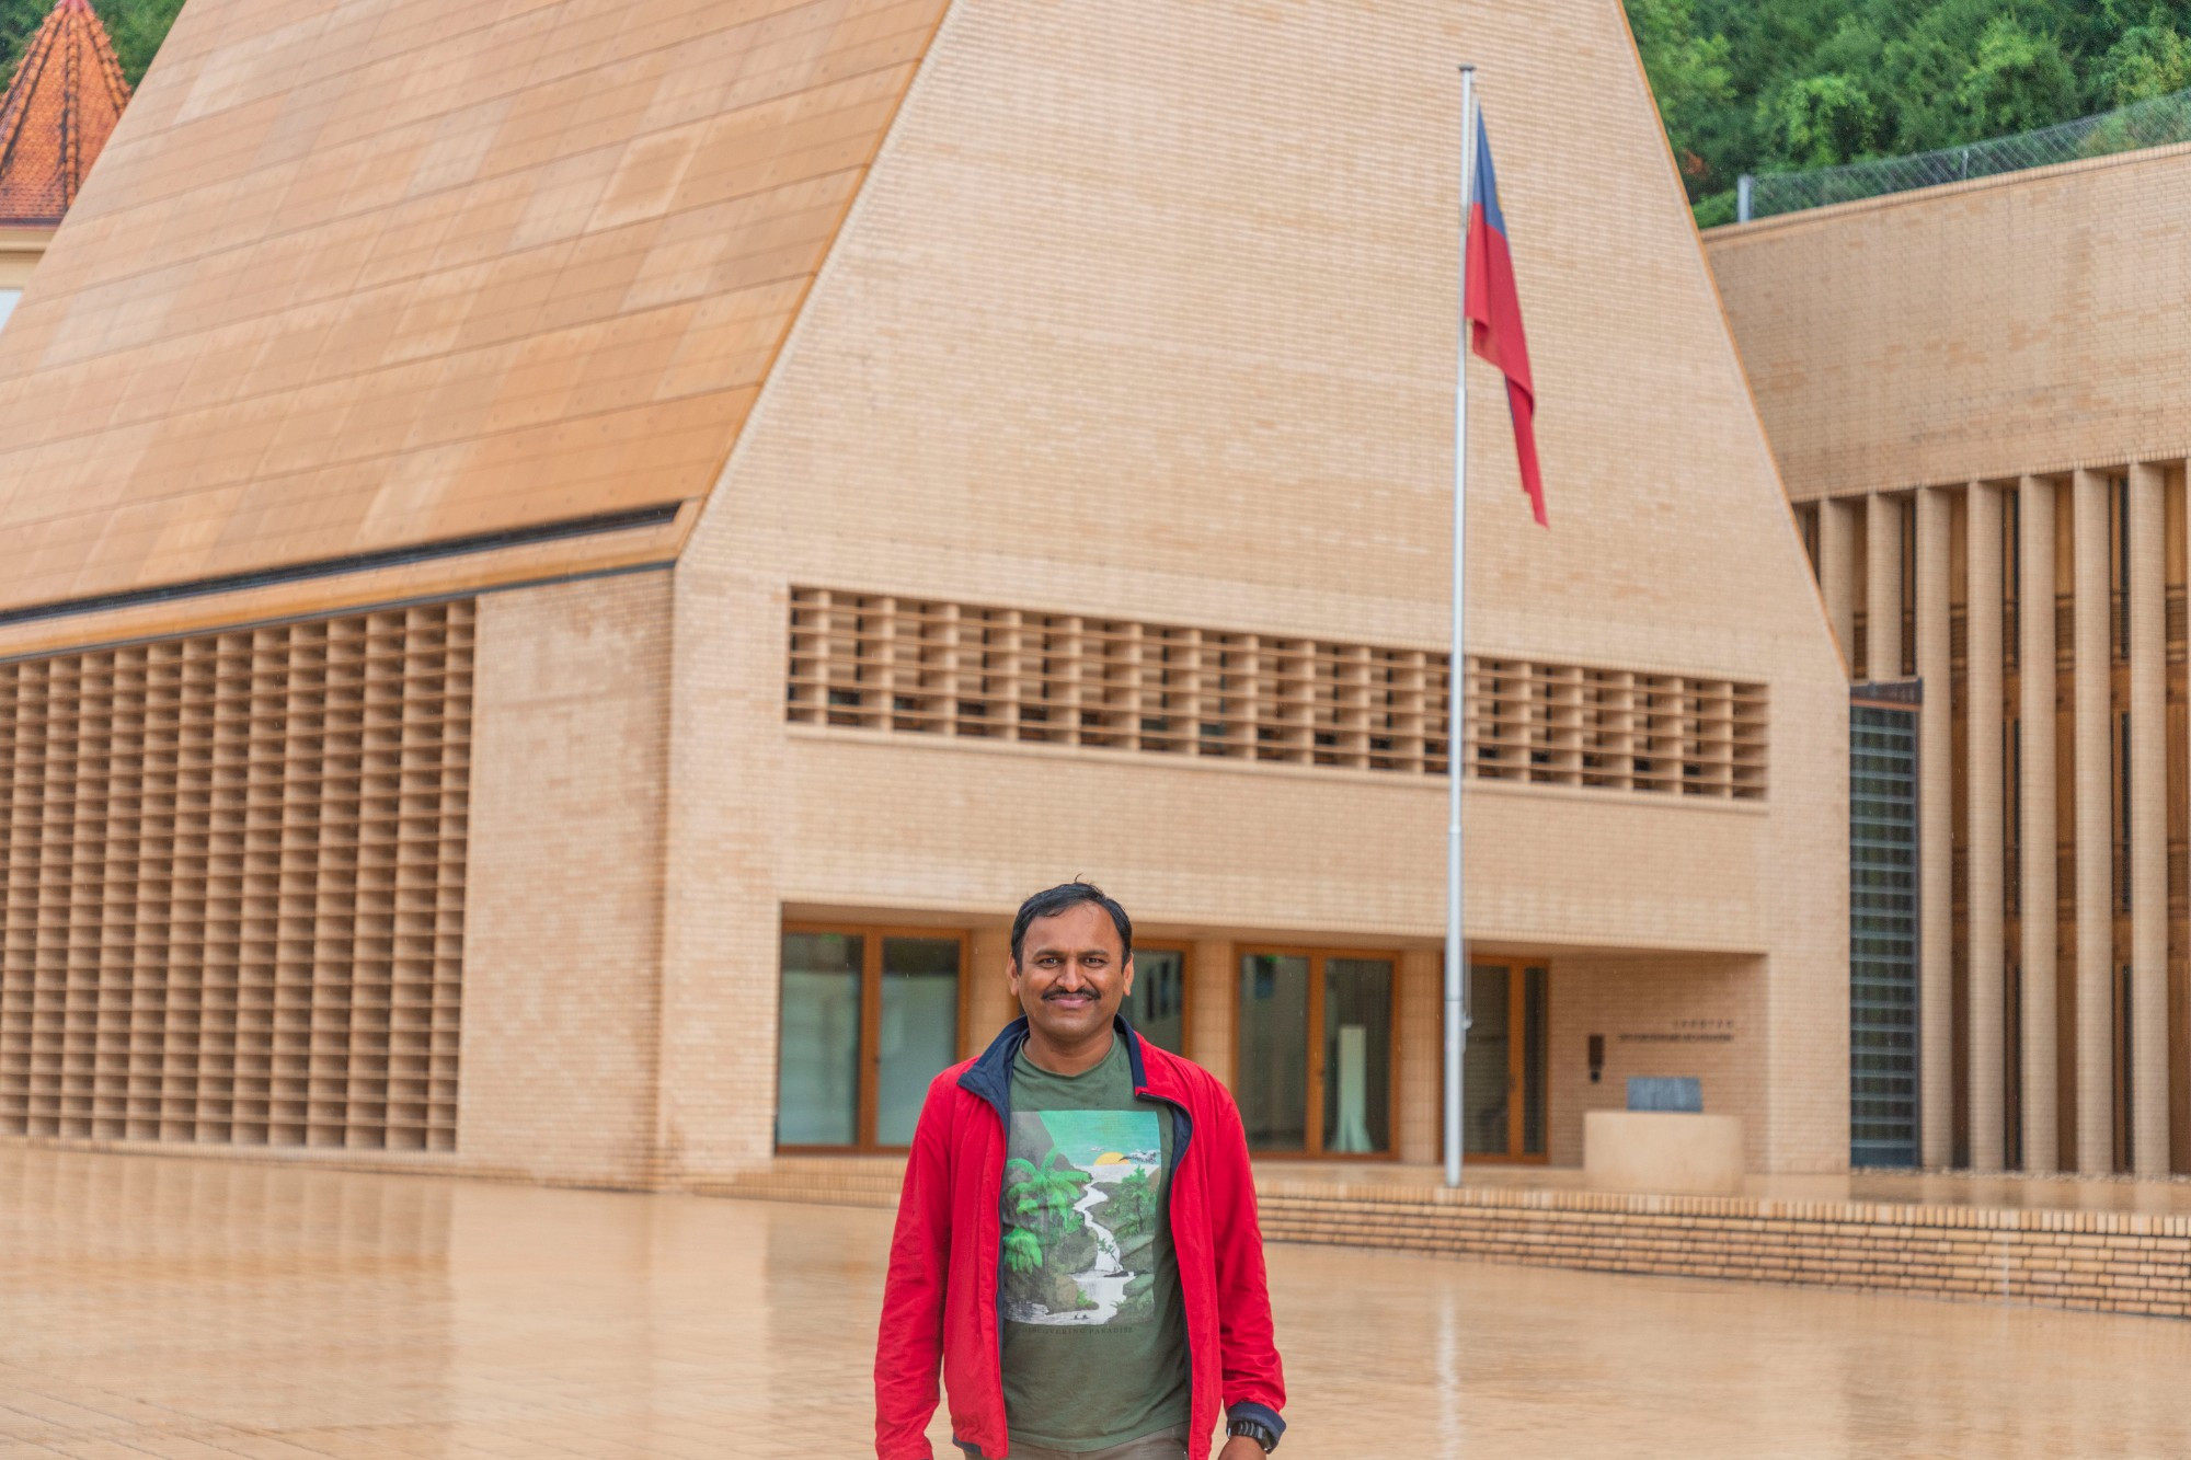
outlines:
[[[0,664],[0,1131],[456,1147],[473,605]]]

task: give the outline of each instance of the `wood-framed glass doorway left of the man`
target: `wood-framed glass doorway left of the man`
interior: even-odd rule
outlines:
[[[957,1059],[962,934],[784,927],[778,1151],[903,1151]]]

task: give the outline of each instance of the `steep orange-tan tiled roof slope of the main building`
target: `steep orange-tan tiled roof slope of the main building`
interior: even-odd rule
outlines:
[[[0,333],[0,640],[675,557],[944,2],[184,7]]]

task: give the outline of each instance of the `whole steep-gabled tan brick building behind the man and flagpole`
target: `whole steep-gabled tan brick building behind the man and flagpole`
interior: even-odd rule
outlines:
[[[1461,57],[1468,1147],[1845,1166],[1847,677],[1613,0],[193,0],[0,333],[0,1133],[890,1149],[1089,875],[1262,1151],[1433,1160]]]

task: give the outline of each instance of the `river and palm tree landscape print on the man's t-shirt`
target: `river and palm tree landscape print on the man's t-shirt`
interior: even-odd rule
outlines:
[[[1159,1111],[1012,1111],[1003,1212],[1010,1322],[1113,1328],[1157,1320]]]

